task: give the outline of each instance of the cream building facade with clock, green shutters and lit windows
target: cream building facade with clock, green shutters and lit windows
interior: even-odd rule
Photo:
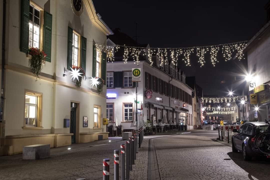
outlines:
[[[0,155],[21,153],[26,145],[59,147],[98,140],[100,135],[108,138],[102,124],[102,118],[106,118],[106,86],[98,94],[89,80],[82,80],[78,89],[71,76],[64,75],[69,74],[64,69],[74,65],[82,67],[87,77],[106,79],[106,58],[103,60],[103,49],[97,47],[106,45],[106,35],[112,31],[96,13],[93,2],[84,0],[83,6],[70,0],[6,3]],[[1,25],[3,9],[1,1]],[[27,28],[29,34],[25,33]],[[27,43],[47,54],[37,81],[29,68]],[[69,127],[65,127],[64,119],[69,119]]]

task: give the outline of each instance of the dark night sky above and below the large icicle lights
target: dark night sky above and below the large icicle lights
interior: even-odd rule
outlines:
[[[139,43],[171,48],[249,40],[266,23],[264,6],[268,1],[94,0],[94,5],[111,29],[120,28],[134,37],[137,22]],[[229,90],[239,94],[245,86],[240,74],[247,70],[247,56],[241,61],[225,62],[221,52],[220,49],[215,67],[208,55],[205,66],[200,67],[195,51],[191,56],[191,67],[180,60],[178,67],[186,76],[196,76],[204,94],[222,96]]]

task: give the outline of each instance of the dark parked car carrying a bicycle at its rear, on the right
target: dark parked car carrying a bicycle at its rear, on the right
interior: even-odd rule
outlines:
[[[268,125],[264,122],[247,122],[239,130],[232,130],[232,132],[236,133],[232,136],[232,152],[243,152],[243,157],[246,161],[250,161],[254,156],[261,155],[259,152],[255,152],[251,145],[255,141],[253,137],[257,127],[259,127],[257,130],[265,130]]]

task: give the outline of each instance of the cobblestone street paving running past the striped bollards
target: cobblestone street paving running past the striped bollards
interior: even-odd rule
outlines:
[[[269,161],[244,161],[241,153],[231,152],[230,145],[215,142],[217,135],[217,131],[193,131],[145,137],[130,179],[269,178]],[[69,152],[64,151],[66,147],[52,148],[49,159],[0,157],[0,179],[102,179],[103,158],[110,158],[110,179],[113,179],[113,150],[120,149],[120,144],[126,141],[120,138],[108,141],[92,142],[85,147],[79,144],[77,150]]]

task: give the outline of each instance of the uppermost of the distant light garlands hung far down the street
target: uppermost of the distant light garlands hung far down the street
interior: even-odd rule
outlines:
[[[234,97],[202,97],[203,103],[231,103],[236,100],[247,101],[247,96],[234,96]]]

